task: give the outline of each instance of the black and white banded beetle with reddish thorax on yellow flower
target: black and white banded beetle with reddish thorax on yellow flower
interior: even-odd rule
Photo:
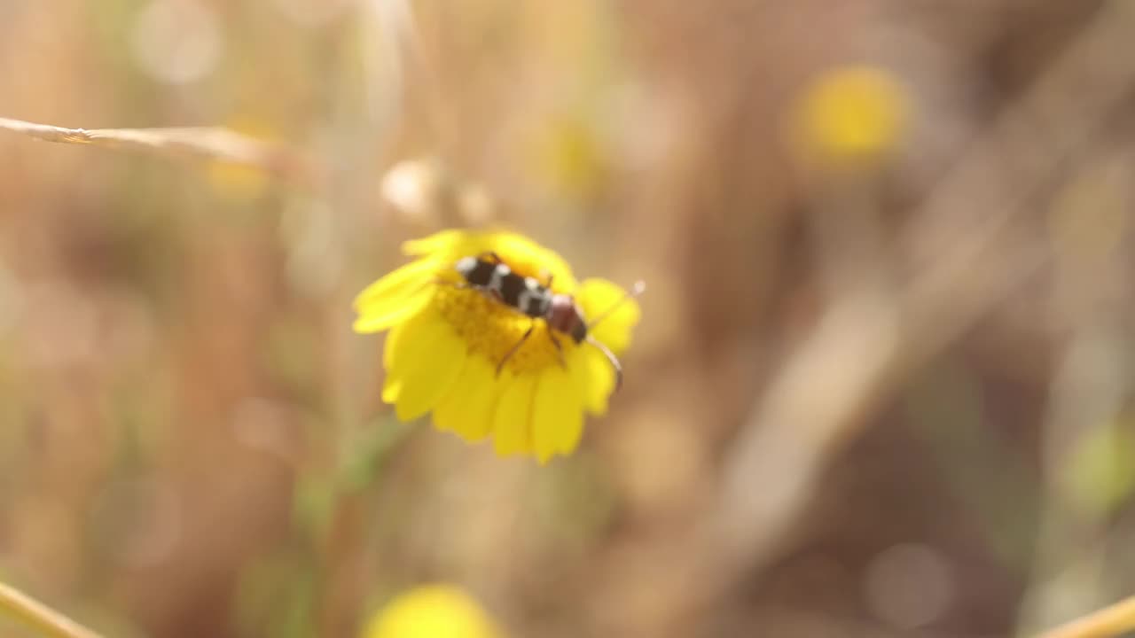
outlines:
[[[465,278],[464,284],[454,284],[455,286],[478,289],[532,319],[532,325],[528,327],[524,335],[520,337],[520,341],[497,363],[497,375],[501,373],[504,364],[512,359],[512,355],[520,350],[520,346],[528,341],[528,337],[532,335],[532,330],[536,329],[536,320],[544,319],[549,328],[570,335],[577,345],[588,343],[598,349],[615,370],[615,389],[617,391],[622,387],[623,367],[619,363],[619,359],[606,345],[591,337],[588,331],[595,328],[599,321],[609,317],[627,300],[642,294],[642,291],[646,289],[646,285],[642,282],[636,283],[627,295],[588,325],[583,320],[583,314],[580,312],[579,305],[571,295],[552,292],[550,276],[546,284],[540,284],[532,277],[516,275],[494,252],[462,258],[457,261],[455,268]],[[560,345],[560,341],[552,334],[552,330],[548,330],[548,337],[556,346],[561,366],[566,366],[563,358],[563,346]]]

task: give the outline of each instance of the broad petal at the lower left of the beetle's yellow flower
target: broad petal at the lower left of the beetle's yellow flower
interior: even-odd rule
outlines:
[[[406,326],[394,344],[382,401],[394,403],[402,421],[431,410],[461,372],[464,344],[434,311],[426,310]]]

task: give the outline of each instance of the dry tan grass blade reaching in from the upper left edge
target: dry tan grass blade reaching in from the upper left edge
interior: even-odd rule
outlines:
[[[287,146],[219,127],[65,128],[0,117],[0,129],[61,144],[91,144],[177,158],[207,159],[258,168],[288,184],[318,187],[316,163]]]

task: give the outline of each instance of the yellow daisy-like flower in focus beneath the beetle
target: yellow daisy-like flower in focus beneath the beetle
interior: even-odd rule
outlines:
[[[544,463],[575,450],[585,412],[607,411],[611,362],[543,319],[533,322],[480,291],[452,285],[463,282],[455,265],[493,252],[518,275],[550,277],[553,292],[573,294],[583,317],[614,309],[589,335],[616,355],[630,344],[638,303],[605,279],[577,283],[560,255],[514,233],[443,230],[406,242],[403,251],[417,259],[355,299],[355,331],[390,330],[382,401],[403,421],[432,412],[440,430],[469,442],[493,437],[502,456],[529,454]]]

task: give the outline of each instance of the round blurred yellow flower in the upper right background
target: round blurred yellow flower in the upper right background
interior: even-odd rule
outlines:
[[[826,160],[874,159],[899,144],[907,117],[906,93],[889,73],[836,67],[806,90],[794,134],[806,152]]]

